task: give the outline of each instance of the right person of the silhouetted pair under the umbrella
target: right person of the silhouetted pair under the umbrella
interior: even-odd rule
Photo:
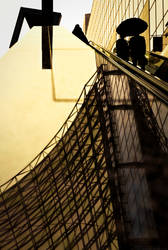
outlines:
[[[139,65],[141,69],[145,69],[147,64],[147,59],[145,57],[146,53],[146,43],[145,38],[140,35],[135,35],[131,37],[129,41],[130,56],[133,62],[133,65]]]

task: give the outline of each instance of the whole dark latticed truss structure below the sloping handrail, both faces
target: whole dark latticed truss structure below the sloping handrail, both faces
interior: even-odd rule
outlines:
[[[167,249],[153,187],[167,181],[167,106],[96,57],[62,128],[1,186],[0,249]]]

